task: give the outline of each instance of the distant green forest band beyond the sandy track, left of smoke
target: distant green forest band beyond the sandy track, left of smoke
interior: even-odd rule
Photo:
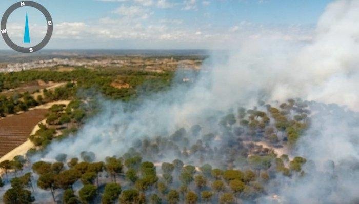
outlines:
[[[22,84],[34,81],[76,81],[77,89],[93,88],[113,99],[129,100],[136,95],[136,89],[151,86],[151,91],[161,91],[170,85],[172,72],[144,72],[133,70],[96,69],[78,67],[74,71],[57,72],[29,70],[12,73],[0,73],[0,90],[13,89]],[[121,77],[129,88],[117,89],[111,86],[112,81]],[[147,89],[148,90],[148,89]],[[61,91],[61,90],[58,90]],[[63,90],[64,91],[64,90]],[[72,93],[75,94],[76,92]],[[72,95],[73,96],[73,95]]]

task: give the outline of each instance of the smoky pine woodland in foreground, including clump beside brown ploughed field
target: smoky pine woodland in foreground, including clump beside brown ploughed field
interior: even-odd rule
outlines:
[[[30,137],[33,154],[46,152],[53,139],[72,136],[95,105],[73,100],[67,107],[54,105],[47,125]],[[265,110],[265,111],[260,111]],[[278,155],[256,144],[288,145],[310,124],[308,104],[290,99],[279,107],[260,103],[253,109],[238,108],[235,114],[218,118],[220,132],[205,133],[201,125],[181,128],[168,136],[138,139],[123,155],[108,155],[103,161],[94,152],[79,158],[66,154],[56,161],[32,165],[22,156],[3,161],[2,183],[11,188],[5,203],[35,200],[61,203],[240,203],[266,195],[267,183],[277,176],[300,179],[310,163],[297,156]],[[58,129],[64,129],[61,135]],[[174,155],[167,161],[168,155]],[[20,173],[21,172],[21,173]],[[48,194],[39,193],[42,190]]]

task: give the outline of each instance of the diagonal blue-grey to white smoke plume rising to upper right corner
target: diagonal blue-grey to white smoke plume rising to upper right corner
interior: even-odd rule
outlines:
[[[356,1],[330,4],[309,45],[257,39],[242,43],[240,51],[226,57],[213,53],[192,87],[175,87],[156,95],[130,114],[124,113],[124,104],[104,101],[104,112],[70,145],[63,142],[64,147],[54,144],[51,149],[81,152],[93,146],[96,151],[109,142],[104,150],[111,153],[107,145],[121,147],[103,138],[121,143],[133,136],[168,133],[195,123],[206,110],[227,111],[238,104],[250,107],[258,98],[301,97],[359,110],[358,9]]]

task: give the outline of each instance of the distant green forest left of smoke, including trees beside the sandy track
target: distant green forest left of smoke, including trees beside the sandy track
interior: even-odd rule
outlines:
[[[25,86],[26,83],[36,80],[55,82],[68,81],[64,87],[50,91],[44,89],[44,94],[37,98],[34,98],[28,92],[13,94],[11,97],[0,94],[0,116],[26,111],[31,107],[49,101],[84,99],[98,93],[111,99],[129,101],[136,98],[139,94],[151,94],[152,92],[165,90],[169,87],[172,77],[172,72],[156,73],[109,69],[89,70],[81,67],[70,72],[32,70],[0,73],[0,90],[14,89],[22,85]],[[115,80],[127,84],[128,87],[119,89],[111,86],[111,83]],[[39,91],[40,90],[37,90],[36,92]]]

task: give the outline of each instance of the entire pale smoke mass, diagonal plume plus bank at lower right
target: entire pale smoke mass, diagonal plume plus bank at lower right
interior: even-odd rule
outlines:
[[[353,201],[359,196],[358,11],[358,1],[331,3],[307,45],[266,38],[240,42],[239,51],[225,56],[213,53],[191,86],[175,86],[146,98],[134,111],[126,111],[127,104],[104,100],[101,114],[76,136],[54,142],[42,158],[92,151],[102,160],[122,155],[136,138],[169,135],[239,105],[300,97],[341,107],[311,104],[312,127],[295,153],[314,161],[315,167],[307,167],[312,177],[301,182],[277,178],[274,182],[281,185],[271,183],[273,189],[279,187],[273,193],[280,191],[283,202]],[[183,77],[178,73],[177,79]]]

